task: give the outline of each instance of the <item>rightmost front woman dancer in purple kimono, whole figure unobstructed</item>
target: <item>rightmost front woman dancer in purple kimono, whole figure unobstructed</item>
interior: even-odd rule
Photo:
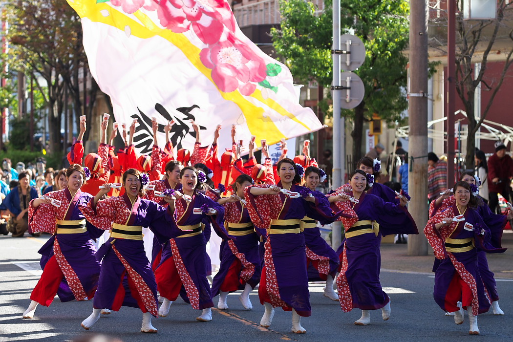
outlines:
[[[477,248],[488,250],[485,242],[490,231],[474,209],[478,199],[467,182],[453,188],[455,205],[432,216],[424,233],[440,265],[435,271],[433,296],[447,312],[455,312],[455,323],[463,323],[466,309],[470,321],[470,335],[478,335],[477,316],[487,312],[490,301],[479,272]],[[462,307],[458,307],[461,301]]]

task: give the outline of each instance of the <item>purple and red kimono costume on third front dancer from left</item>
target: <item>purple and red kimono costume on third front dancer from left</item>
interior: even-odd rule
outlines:
[[[195,208],[201,209],[203,205],[215,209],[216,215],[193,213]],[[193,194],[190,203],[184,199],[176,200],[175,208],[172,225],[181,231],[181,235],[170,239],[166,243],[170,248],[162,250],[161,263],[155,269],[159,293],[174,301],[183,286],[194,309],[211,308],[214,305],[207,280],[207,242],[203,221],[208,218],[216,233],[228,239],[223,227],[224,208],[199,192]]]

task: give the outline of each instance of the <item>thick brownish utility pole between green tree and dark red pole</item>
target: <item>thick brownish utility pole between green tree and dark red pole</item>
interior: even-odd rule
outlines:
[[[410,89],[408,97],[408,210],[419,235],[408,236],[408,255],[427,255],[427,1],[410,1]]]

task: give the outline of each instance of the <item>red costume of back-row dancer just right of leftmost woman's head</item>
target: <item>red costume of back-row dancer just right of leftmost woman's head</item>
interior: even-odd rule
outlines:
[[[110,177],[110,167],[108,163],[109,145],[100,144],[98,154],[89,153],[84,166],[89,168],[91,178],[82,186],[81,190],[96,196],[100,189],[98,187],[108,183]]]

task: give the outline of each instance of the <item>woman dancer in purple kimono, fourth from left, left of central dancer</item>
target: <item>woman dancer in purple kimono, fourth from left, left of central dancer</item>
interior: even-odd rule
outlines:
[[[212,295],[219,294],[218,309],[228,309],[226,297],[229,292],[244,290],[239,296],[242,306],[251,310],[249,293],[260,280],[259,237],[249,219],[248,209],[240,199],[244,198],[244,189],[253,184],[247,174],[241,174],[232,185],[234,194],[219,199],[225,208],[225,227],[228,234],[236,236],[235,241],[221,243],[221,267],[212,281]]]

